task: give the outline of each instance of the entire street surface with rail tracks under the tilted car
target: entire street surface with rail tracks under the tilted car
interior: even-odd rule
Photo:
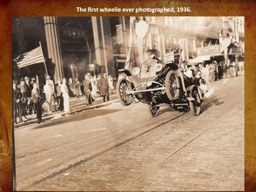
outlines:
[[[29,190],[244,190],[244,78],[225,81],[209,85],[209,100],[228,95],[200,116],[185,114]],[[17,187],[180,115],[163,108],[150,118],[143,104],[97,110],[16,130]]]

